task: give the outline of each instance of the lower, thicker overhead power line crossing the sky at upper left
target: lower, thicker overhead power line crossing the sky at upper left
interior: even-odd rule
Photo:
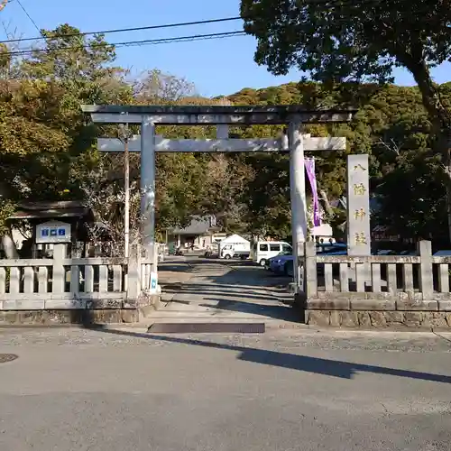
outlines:
[[[246,33],[241,30],[236,30],[235,32],[215,32],[210,34],[191,34],[189,36],[179,36],[173,38],[160,38],[160,39],[146,39],[143,41],[122,41],[122,42],[113,42],[106,43],[107,47],[133,47],[138,45],[157,45],[157,44],[169,44],[172,42],[189,42],[189,41],[207,41],[211,39],[224,39],[231,38],[235,36],[244,36]],[[60,47],[56,49],[51,49],[51,51],[79,51],[82,49],[96,48],[100,47],[98,44],[87,44],[87,45],[76,45],[69,47]],[[27,54],[35,54],[35,53],[46,53],[47,49],[26,49],[26,50],[18,50],[18,51],[10,51],[8,52],[11,56],[21,56]]]

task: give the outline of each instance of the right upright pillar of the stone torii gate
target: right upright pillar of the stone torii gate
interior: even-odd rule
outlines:
[[[307,202],[304,168],[304,145],[300,123],[290,123],[288,139],[290,145],[290,196],[291,196],[291,235],[293,237],[293,272],[297,290],[301,290],[299,272],[299,248],[307,240]]]

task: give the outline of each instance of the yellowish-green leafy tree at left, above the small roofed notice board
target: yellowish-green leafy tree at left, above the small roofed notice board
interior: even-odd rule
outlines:
[[[77,174],[74,169],[102,132],[87,123],[80,104],[132,98],[102,36],[87,38],[69,25],[42,33],[43,47],[23,60],[2,48],[2,67],[14,69],[14,78],[4,71],[0,82],[0,196],[10,206],[5,211],[25,199],[61,198],[66,189],[81,197],[87,168]],[[6,217],[0,218],[3,230]]]

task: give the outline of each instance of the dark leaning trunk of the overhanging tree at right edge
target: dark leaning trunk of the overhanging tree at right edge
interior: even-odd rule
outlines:
[[[406,64],[421,92],[423,105],[428,111],[429,119],[437,135],[438,149],[441,154],[445,174],[446,215],[448,239],[451,243],[451,111],[443,104],[440,93],[430,76],[426,61],[409,61]]]

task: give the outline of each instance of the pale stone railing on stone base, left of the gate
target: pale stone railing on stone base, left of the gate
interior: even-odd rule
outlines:
[[[134,322],[158,299],[151,289],[151,262],[66,258],[55,244],[51,259],[0,260],[0,324]]]

